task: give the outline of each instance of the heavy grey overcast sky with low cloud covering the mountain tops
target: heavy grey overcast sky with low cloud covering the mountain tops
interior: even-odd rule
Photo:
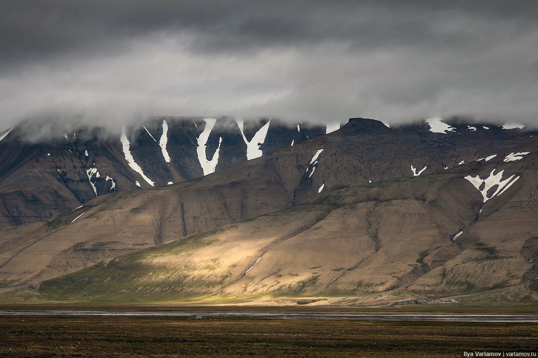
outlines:
[[[2,0],[0,130],[148,115],[538,124],[537,1]]]

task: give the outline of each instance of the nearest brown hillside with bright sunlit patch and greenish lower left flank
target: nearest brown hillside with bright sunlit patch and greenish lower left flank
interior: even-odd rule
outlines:
[[[534,172],[518,170],[522,177]],[[159,300],[516,287],[532,281],[526,248],[538,237],[534,191],[531,181],[518,181],[484,204],[454,173],[354,186],[105,261],[44,282],[40,291]]]

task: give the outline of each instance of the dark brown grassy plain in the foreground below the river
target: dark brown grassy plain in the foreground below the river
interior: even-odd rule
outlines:
[[[0,317],[0,356],[461,357],[536,352],[527,323],[192,319],[133,316]]]

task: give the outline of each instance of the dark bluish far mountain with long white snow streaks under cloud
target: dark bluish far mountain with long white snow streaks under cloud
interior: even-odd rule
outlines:
[[[0,135],[0,227],[208,175],[326,131],[274,119],[153,118],[118,134],[23,123]]]

